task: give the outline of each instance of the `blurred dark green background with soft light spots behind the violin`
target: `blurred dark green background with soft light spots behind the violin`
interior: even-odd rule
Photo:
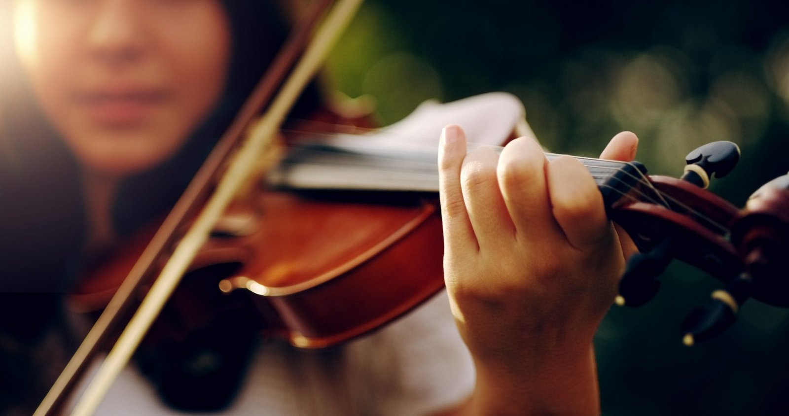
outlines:
[[[731,140],[742,159],[712,191],[742,206],[789,169],[783,6],[369,0],[327,72],[372,95],[383,124],[428,98],[508,91],[552,151],[594,156],[630,130],[651,173],[679,176],[690,150]],[[688,348],[682,318],[720,284],[682,265],[662,281],[600,327],[604,414],[789,414],[789,312],[750,301],[733,329]]]

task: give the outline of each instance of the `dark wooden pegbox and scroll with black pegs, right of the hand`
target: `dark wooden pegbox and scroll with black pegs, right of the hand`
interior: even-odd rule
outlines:
[[[686,345],[733,325],[751,297],[789,307],[789,174],[765,184],[738,210],[704,190],[713,174],[727,175],[738,159],[734,143],[699,147],[688,154],[681,180],[652,176],[652,194],[629,195],[633,201],[611,212],[641,251],[630,258],[620,280],[620,306],[653,299],[657,278],[674,258],[724,281],[724,288],[682,323]]]

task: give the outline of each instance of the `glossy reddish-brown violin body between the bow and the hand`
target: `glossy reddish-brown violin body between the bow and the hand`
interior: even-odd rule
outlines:
[[[296,347],[327,347],[376,329],[443,287],[435,202],[343,202],[271,191],[258,207],[260,226],[241,237],[249,247],[239,252],[243,266],[222,280],[222,290],[260,295],[260,310],[276,312],[264,313],[264,331]],[[211,246],[223,249],[222,241]]]

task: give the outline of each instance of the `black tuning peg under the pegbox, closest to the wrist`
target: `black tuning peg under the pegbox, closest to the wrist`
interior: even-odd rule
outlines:
[[[619,295],[616,304],[619,306],[641,306],[655,297],[660,289],[657,277],[664,272],[673,258],[671,238],[658,243],[652,251],[637,253],[630,257],[625,273],[619,280]]]

